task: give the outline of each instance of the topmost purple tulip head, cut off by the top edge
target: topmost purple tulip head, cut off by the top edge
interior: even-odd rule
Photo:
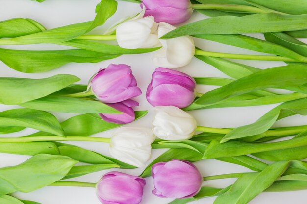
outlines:
[[[166,22],[172,25],[187,21],[193,12],[190,0],[143,0],[144,16],[153,16],[155,22]]]

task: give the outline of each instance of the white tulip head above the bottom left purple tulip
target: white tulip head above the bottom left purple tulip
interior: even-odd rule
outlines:
[[[119,128],[111,137],[109,151],[115,159],[142,167],[151,158],[154,138],[148,128]]]

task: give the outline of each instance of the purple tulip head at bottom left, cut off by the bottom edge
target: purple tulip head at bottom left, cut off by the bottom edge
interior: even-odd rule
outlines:
[[[145,179],[121,172],[109,172],[96,185],[96,194],[102,204],[139,204]]]

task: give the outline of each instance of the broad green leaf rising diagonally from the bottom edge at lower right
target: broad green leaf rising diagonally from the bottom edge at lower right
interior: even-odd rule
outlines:
[[[230,189],[213,204],[247,204],[274,183],[288,168],[289,162],[276,162],[260,173],[242,174]]]

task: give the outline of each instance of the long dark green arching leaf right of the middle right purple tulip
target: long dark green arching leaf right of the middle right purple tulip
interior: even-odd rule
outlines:
[[[302,86],[307,82],[307,67],[288,65],[268,68],[230,84],[205,93],[195,101],[196,104],[208,105],[227,98],[265,88],[288,88]]]

